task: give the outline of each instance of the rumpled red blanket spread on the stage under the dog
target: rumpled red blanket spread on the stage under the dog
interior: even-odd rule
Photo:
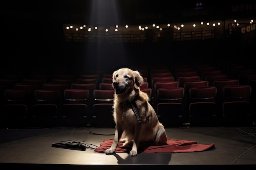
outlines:
[[[105,153],[106,149],[110,148],[113,139],[104,140],[99,148],[94,149],[95,152]],[[178,152],[201,152],[214,148],[214,144],[198,144],[196,141],[186,141],[178,139],[167,139],[166,145],[154,146],[153,144],[140,144],[138,153],[178,153]],[[131,146],[123,146],[119,143],[116,153],[129,153]]]

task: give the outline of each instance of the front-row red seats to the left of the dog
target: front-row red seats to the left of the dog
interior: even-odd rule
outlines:
[[[112,119],[114,90],[65,88],[60,90],[6,89],[1,108],[1,126],[53,127],[98,126],[115,127]],[[103,104],[103,105],[101,105]],[[102,115],[99,115],[104,113]]]

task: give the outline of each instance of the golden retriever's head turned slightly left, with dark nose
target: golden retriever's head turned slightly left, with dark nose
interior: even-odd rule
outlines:
[[[144,82],[143,77],[139,71],[132,71],[129,68],[120,68],[114,71],[112,76],[112,86],[117,95],[128,92],[129,94],[139,89],[139,86]]]

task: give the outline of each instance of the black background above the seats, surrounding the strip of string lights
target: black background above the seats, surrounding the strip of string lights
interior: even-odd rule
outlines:
[[[92,7],[93,2],[99,7]],[[68,72],[102,71],[111,73],[123,66],[137,67],[166,64],[173,66],[181,62],[197,63],[202,59],[215,62],[219,59],[254,63],[251,49],[255,43],[244,44],[239,38],[222,40],[192,40],[162,43],[78,43],[65,42],[63,24],[90,22],[112,25],[112,4],[116,5],[120,24],[145,24],[189,22],[204,19],[226,20],[231,17],[255,17],[253,1],[202,2],[200,9],[206,14],[191,15],[198,8],[197,2],[171,0],[38,0],[1,2],[0,39],[1,71],[30,72],[34,69],[52,71],[65,67]],[[232,11],[232,5],[253,4],[253,10]],[[99,11],[102,11],[99,13]],[[144,16],[144,17],[143,17]],[[99,19],[101,18],[101,19]],[[255,35],[255,30],[254,30]],[[255,39],[255,36],[252,37]],[[236,49],[237,51],[233,52]],[[250,51],[247,51],[250,50]],[[208,53],[206,53],[208,52]],[[243,55],[241,58],[239,58]]]

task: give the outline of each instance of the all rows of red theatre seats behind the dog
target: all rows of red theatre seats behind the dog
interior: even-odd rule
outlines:
[[[203,68],[203,66],[201,66],[201,68]],[[209,71],[207,69],[210,69],[211,71]],[[224,86],[231,85],[230,82],[234,82],[235,84],[233,84],[233,85],[235,85],[235,86],[241,85],[239,82],[240,79],[228,79],[227,75],[225,78],[218,77],[220,75],[224,75],[223,71],[220,73],[219,70],[213,70],[213,67],[209,67],[209,66],[205,66],[204,71],[202,71],[203,69],[194,70],[194,68],[191,68],[188,66],[180,67],[180,69],[175,69],[175,70],[173,70],[173,72],[171,72],[170,69],[163,68],[163,67],[156,68],[156,69],[138,68],[137,70],[141,71],[141,75],[145,79],[145,83],[143,84],[143,86],[141,86],[141,90],[148,93],[148,95],[151,98],[150,102],[153,105],[153,107],[155,108],[157,115],[159,117],[159,120],[161,122],[163,122],[163,124],[165,126],[176,126],[176,125],[182,126],[184,124],[193,124],[193,123],[194,124],[195,123],[204,123],[204,124],[214,123],[215,125],[218,125],[219,123],[223,123],[223,115],[225,115],[225,114],[223,114],[224,113],[224,111],[223,111],[223,102],[224,101],[222,101],[222,97],[223,97],[222,88]],[[206,74],[206,73],[210,73],[210,72],[213,75]],[[238,73],[235,74],[234,71],[232,73],[233,73],[233,75],[239,75]],[[245,74],[246,76],[253,75],[251,72],[249,73],[249,71],[247,73],[248,74]],[[54,116],[55,120],[52,122],[52,124],[48,124],[48,125],[52,125],[52,126],[113,127],[114,124],[113,124],[112,110],[111,110],[112,109],[112,106],[111,106],[112,98],[110,97],[110,99],[108,99],[109,103],[107,105],[109,105],[109,106],[107,108],[109,108],[109,112],[106,111],[107,108],[104,108],[104,107],[106,107],[106,105],[101,106],[104,109],[99,110],[97,112],[95,111],[96,108],[94,108],[94,106],[99,105],[98,103],[95,103],[96,101],[97,102],[103,101],[103,100],[99,100],[99,99],[95,100],[95,98],[96,98],[95,90],[96,91],[97,90],[113,91],[111,89],[111,82],[112,82],[111,76],[112,75],[106,74],[102,78],[100,78],[100,76],[97,74],[95,74],[95,75],[97,75],[97,78],[95,78],[95,77],[93,78],[94,75],[92,75],[92,74],[90,75],[91,77],[85,77],[85,75],[89,75],[89,74],[80,74],[79,77],[77,77],[77,76],[75,77],[72,74],[55,75],[54,79],[50,79],[48,77],[47,82],[40,82],[40,84],[37,84],[38,86],[34,86],[34,89],[31,89],[31,91],[30,91],[31,93],[29,94],[29,96],[30,96],[29,105],[25,104],[25,106],[27,107],[26,112],[29,113],[25,117],[23,117],[26,119],[26,126],[28,126],[28,125],[29,126],[39,126],[40,125],[39,123],[42,124],[40,126],[45,126],[44,123],[47,122],[46,120],[42,121],[43,119],[40,119],[40,118],[37,119],[36,116],[32,114],[33,109],[35,109],[36,106],[38,108],[45,106],[45,103],[43,105],[42,105],[42,103],[38,103],[39,101],[41,101],[43,99],[36,99],[36,97],[38,97],[38,95],[36,95],[37,93],[35,93],[35,92],[38,90],[39,91],[40,90],[44,90],[44,91],[56,90],[59,92],[59,95],[60,95],[59,99],[61,99],[61,100],[58,100],[58,103],[56,103],[55,105],[54,104],[50,105],[50,107],[57,110],[57,112],[56,112],[57,115]],[[212,79],[206,80],[207,76],[211,77]],[[38,80],[39,80],[39,78],[35,78],[35,77],[36,76],[34,75],[34,79],[32,77],[30,77],[30,79],[27,79],[27,78],[22,79],[22,82],[16,82],[13,85],[13,88],[8,88],[8,89],[20,89],[24,86],[27,87],[27,85],[32,86],[32,85],[36,84],[35,82],[38,82]],[[41,77],[44,77],[44,75],[41,75]],[[72,77],[72,81],[70,81],[71,77]],[[202,77],[204,77],[204,78],[202,78]],[[250,78],[250,80],[253,81],[254,78],[252,78],[252,77]],[[189,78],[191,78],[191,79],[189,79]],[[214,78],[216,78],[216,79],[214,79]],[[34,82],[28,82],[31,79],[34,80]],[[83,82],[83,80],[85,80],[85,79],[93,79],[93,80],[97,79],[97,82],[99,82],[99,83]],[[4,79],[2,79],[2,80],[4,80]],[[46,80],[46,79],[44,79],[44,80]],[[67,80],[69,80],[69,81],[67,81]],[[99,80],[101,80],[101,81],[99,81]],[[218,84],[224,80],[228,81],[229,84]],[[244,82],[246,82],[246,81],[244,81]],[[247,82],[249,82],[249,81],[247,81]],[[199,83],[202,83],[202,84],[199,84]],[[4,83],[2,83],[2,84],[4,84]],[[88,89],[88,84],[91,84],[91,85],[93,84],[94,86],[92,88]],[[7,85],[10,85],[10,84],[7,84]],[[60,85],[63,85],[63,86],[60,87]],[[85,87],[85,86],[87,86],[87,87]],[[215,90],[216,90],[215,98],[211,101],[204,100],[203,101],[204,105],[202,105],[202,106],[199,105],[199,103],[201,103],[202,101],[201,102],[192,102],[191,96],[190,96],[191,95],[190,89],[192,89],[192,87],[199,88],[199,86],[201,86],[201,87],[204,86],[204,87],[212,88],[212,89],[215,88]],[[2,87],[6,87],[6,86],[3,85]],[[9,87],[11,87],[11,86],[9,86]],[[251,88],[250,91],[252,92],[252,90],[253,90],[252,86],[250,86],[250,88]],[[82,94],[88,95],[88,98],[86,98],[86,100],[85,100],[85,96],[83,98],[83,100],[84,100],[83,102],[86,101],[86,103],[80,103],[78,101],[74,102],[75,99],[72,99],[72,97],[70,97],[70,96],[65,97],[65,96],[68,96],[71,89],[88,89],[88,93],[85,91],[82,92],[82,91],[76,90],[76,92],[80,95],[82,95]],[[171,89],[171,90],[166,90],[166,89]],[[174,96],[177,95],[176,93],[171,92],[171,91],[179,91],[179,90],[181,90],[181,92],[183,91],[183,93],[180,92],[180,94],[183,94],[183,96],[181,96],[181,97],[176,96],[174,98],[168,96],[169,93],[173,93]],[[202,91],[201,91],[201,93],[202,93]],[[206,93],[205,89],[204,89],[204,93]],[[2,113],[6,113],[6,114],[13,113],[8,110],[10,110],[10,107],[12,109],[15,109],[15,107],[12,107],[12,105],[9,105],[10,103],[5,103],[6,102],[5,93],[2,93],[2,94],[3,94],[3,98],[2,98],[3,104],[8,105],[8,106],[4,106],[2,108],[2,110],[4,110]],[[164,100],[164,97],[161,96],[162,94],[164,94],[165,98],[168,98],[168,99]],[[111,95],[113,95],[113,92]],[[239,97],[236,97],[236,98],[239,98]],[[249,99],[252,99],[252,97],[254,97],[254,95],[252,95],[252,93],[250,93]],[[209,98],[209,97],[201,97],[201,98]],[[33,102],[31,102],[31,99],[33,99],[32,100]],[[176,100],[176,99],[182,99],[181,100],[182,102],[177,102],[179,100]],[[11,101],[11,99],[9,99],[9,102],[10,101]],[[72,103],[70,103],[70,101],[72,101]],[[172,103],[175,103],[175,104],[172,104]],[[196,104],[192,105],[191,103],[196,103]],[[243,102],[240,102],[240,104],[242,104],[242,103]],[[244,103],[246,103],[246,101],[244,101]],[[252,102],[249,101],[249,104],[252,104]],[[85,105],[86,105],[86,109],[85,109]],[[195,106],[198,106],[198,107],[196,107],[198,109],[198,108],[211,108],[211,107],[209,107],[210,105],[211,106],[214,105],[214,107],[216,106],[216,112],[215,112],[215,109],[210,109],[211,113],[207,109],[201,109],[201,111],[208,112],[209,114],[202,115],[203,113],[200,113],[199,111],[194,112],[194,113],[198,113],[197,116],[191,114],[193,112],[192,108],[195,108]],[[175,107],[168,108],[167,106],[168,107],[175,106]],[[235,106],[238,106],[238,105],[235,104]],[[248,106],[248,105],[246,105],[246,106]],[[18,107],[22,107],[22,106],[20,105]],[[70,109],[67,109],[67,107],[70,107]],[[70,110],[69,113],[74,116],[74,114],[73,114],[74,112],[79,113],[79,109],[78,109],[79,107],[81,108],[81,110],[84,109],[84,111],[81,111],[81,113],[83,113],[83,119],[80,116],[81,119],[79,119],[78,117],[74,117],[73,121],[71,121],[72,119],[68,118],[69,116],[68,116],[67,110]],[[179,111],[178,108],[182,108],[182,110],[180,110],[182,112],[175,116],[174,113],[177,113],[175,110]],[[239,106],[238,108],[244,108],[244,107]],[[246,108],[250,108],[250,107],[246,107]],[[20,109],[20,110],[22,110],[22,109]],[[23,106],[23,110],[25,110],[24,106]],[[41,115],[42,117],[43,117],[43,115],[45,115],[45,113],[47,113],[47,110],[43,111],[43,108],[40,108],[38,110],[36,112],[34,111],[34,113],[36,113],[37,115],[40,115],[39,112],[42,111],[42,115]],[[85,110],[86,110],[86,114],[84,114]],[[234,109],[234,110],[236,111],[239,109]],[[254,110],[254,109],[252,108],[252,110]],[[109,113],[109,114],[104,114],[106,117],[103,117],[102,113],[105,113],[105,112]],[[240,113],[242,113],[242,112],[243,111],[240,111]],[[101,115],[97,116],[96,113],[99,113],[99,114],[101,113]],[[252,115],[253,114],[254,114],[254,112],[252,113]],[[166,115],[171,116],[171,117],[165,117]],[[201,119],[205,115],[207,115],[207,116],[211,115],[210,117],[207,118],[208,121],[207,121],[207,119]],[[248,112],[248,115],[250,116],[249,112]],[[7,116],[5,116],[5,117],[7,117]],[[227,119],[227,117],[224,117],[224,118]],[[5,124],[7,124],[8,121],[5,121],[4,119],[2,119],[2,120]],[[227,119],[227,120],[229,121],[230,119]],[[246,119],[246,120],[248,120],[248,119]],[[251,123],[252,120],[253,119],[249,119],[249,123]],[[80,125],[79,125],[79,121],[81,121]],[[220,122],[220,121],[222,121],[222,122]],[[13,121],[9,121],[9,122],[13,122]],[[226,120],[225,120],[225,122],[226,122]],[[231,122],[235,122],[235,121],[232,120]],[[8,123],[8,124],[10,124],[10,123]],[[9,126],[9,125],[7,125],[7,126]]]

